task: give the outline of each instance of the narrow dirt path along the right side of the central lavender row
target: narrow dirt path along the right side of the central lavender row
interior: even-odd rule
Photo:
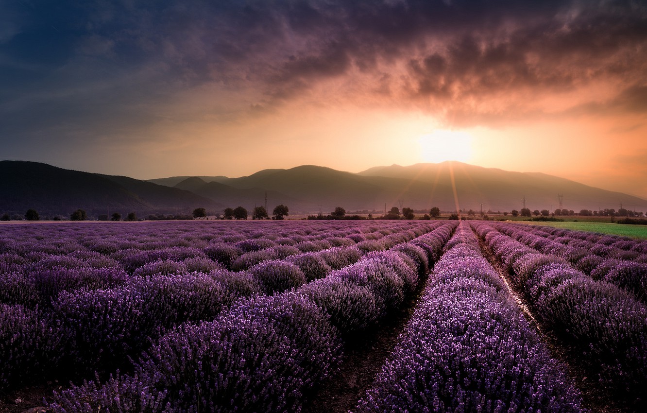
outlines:
[[[543,326],[535,317],[521,291],[516,289],[510,281],[510,276],[505,268],[494,255],[494,252],[487,245],[485,240],[474,234],[479,240],[481,253],[492,264],[492,267],[499,273],[505,285],[512,295],[512,298],[519,304],[527,320],[537,329],[554,359],[560,361],[565,372],[573,380],[573,384],[580,390],[584,407],[591,413],[637,413],[627,403],[622,403],[616,396],[609,394],[608,390],[587,374],[586,370],[578,362],[581,352],[575,350],[564,340],[560,340],[548,326]]]

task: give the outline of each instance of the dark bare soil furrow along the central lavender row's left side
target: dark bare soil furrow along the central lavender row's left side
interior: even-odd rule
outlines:
[[[406,305],[380,323],[376,331],[366,333],[362,340],[347,343],[344,361],[336,374],[329,376],[316,391],[303,413],[347,413],[366,394],[375,376],[382,369],[398,337],[408,324],[426,285],[426,277]]]

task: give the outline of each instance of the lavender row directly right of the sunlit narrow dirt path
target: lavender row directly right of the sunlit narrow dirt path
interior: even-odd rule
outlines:
[[[536,317],[582,353],[580,362],[600,383],[644,403],[645,304],[616,285],[593,280],[563,257],[537,252],[486,223],[474,228],[505,263]]]

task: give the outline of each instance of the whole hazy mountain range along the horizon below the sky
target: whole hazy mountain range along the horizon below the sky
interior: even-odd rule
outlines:
[[[294,213],[328,214],[335,206],[381,213],[391,206],[428,210],[456,208],[510,211],[534,209],[647,210],[647,200],[602,190],[545,173],[508,172],[461,162],[378,166],[360,173],[322,166],[261,170],[245,177],[177,176],[140,181],[56,168],[38,162],[0,161],[0,213],[89,215],[111,212],[188,214],[204,207],[215,214],[226,206],[289,206]]]

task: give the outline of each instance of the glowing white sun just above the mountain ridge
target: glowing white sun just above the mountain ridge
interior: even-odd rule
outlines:
[[[436,129],[418,139],[424,162],[468,162],[472,159],[472,136],[463,131]]]

